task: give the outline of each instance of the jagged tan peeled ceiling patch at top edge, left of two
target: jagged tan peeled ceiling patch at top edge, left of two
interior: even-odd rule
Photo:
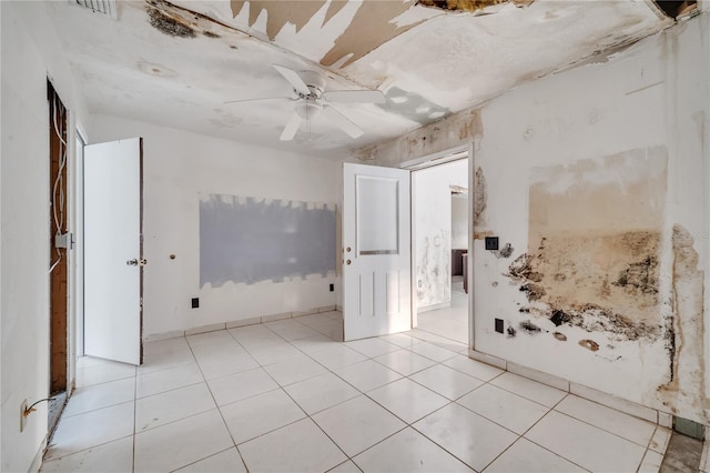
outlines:
[[[301,31],[315,13],[326,3],[326,0],[232,0],[232,16],[240,14],[244,4],[248,3],[248,26],[253,27],[262,12],[266,12],[266,34],[274,40],[278,32],[286,26],[293,24],[296,32]],[[342,8],[342,7],[341,7]]]

